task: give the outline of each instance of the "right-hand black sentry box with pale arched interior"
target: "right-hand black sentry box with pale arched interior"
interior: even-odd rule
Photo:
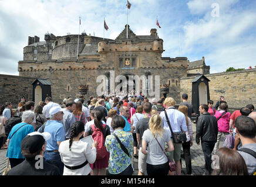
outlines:
[[[194,112],[200,115],[199,105],[206,104],[210,99],[209,82],[210,80],[204,75],[198,75],[192,83],[192,105]]]

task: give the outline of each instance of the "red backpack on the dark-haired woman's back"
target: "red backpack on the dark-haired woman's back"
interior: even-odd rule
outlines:
[[[106,124],[102,124],[103,129],[105,128]],[[106,157],[107,154],[107,148],[105,147],[105,138],[103,136],[102,131],[100,131],[99,128],[95,128],[95,124],[92,124],[92,138],[97,142],[97,147],[96,147],[96,160],[100,160],[102,158]]]

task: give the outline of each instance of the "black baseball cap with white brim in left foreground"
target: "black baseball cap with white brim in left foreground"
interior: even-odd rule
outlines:
[[[41,150],[43,144],[46,140],[50,139],[50,133],[38,131],[29,133],[21,142],[21,150],[29,150],[30,153],[36,153],[36,151]]]

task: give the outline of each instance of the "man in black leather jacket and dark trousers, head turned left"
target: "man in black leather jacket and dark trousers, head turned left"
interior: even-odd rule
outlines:
[[[211,168],[211,153],[217,141],[218,135],[218,123],[216,117],[210,115],[208,111],[208,105],[202,104],[199,106],[199,112],[201,116],[197,120],[197,134],[196,134],[196,143],[201,146],[204,153],[204,160],[206,162],[206,170],[204,175],[210,175],[212,172]],[[174,148],[175,149],[175,148]]]

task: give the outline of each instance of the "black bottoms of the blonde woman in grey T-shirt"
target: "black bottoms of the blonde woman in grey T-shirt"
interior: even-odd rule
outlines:
[[[159,165],[147,164],[147,175],[163,176],[169,172],[169,162]]]

